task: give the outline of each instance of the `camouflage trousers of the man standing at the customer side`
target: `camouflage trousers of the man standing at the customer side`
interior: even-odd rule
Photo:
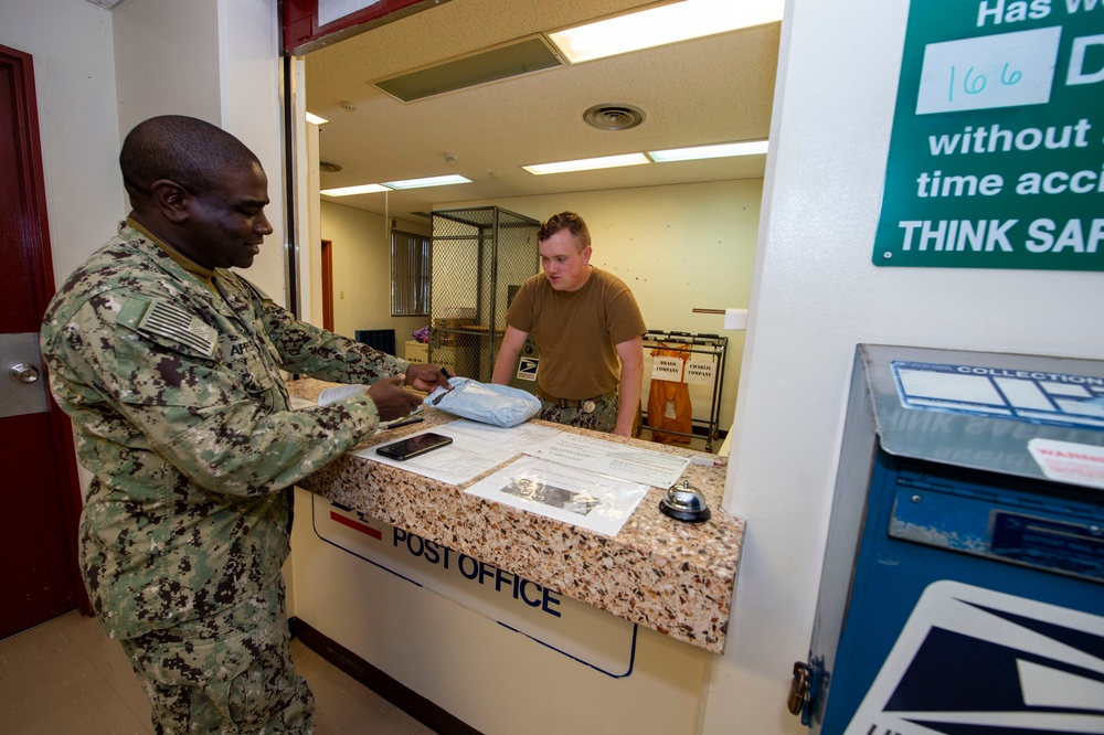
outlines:
[[[124,640],[157,733],[311,733],[315,697],[296,674],[284,580],[219,615]]]

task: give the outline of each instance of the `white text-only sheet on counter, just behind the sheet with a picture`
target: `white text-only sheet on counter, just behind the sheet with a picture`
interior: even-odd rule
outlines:
[[[690,464],[689,458],[650,449],[637,449],[616,441],[591,439],[566,432],[561,432],[526,450],[526,454],[665,490],[678,481]]]

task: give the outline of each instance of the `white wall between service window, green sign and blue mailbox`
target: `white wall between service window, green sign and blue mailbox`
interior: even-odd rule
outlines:
[[[707,732],[804,732],[808,654],[859,342],[1096,358],[1095,273],[871,264],[909,3],[790,0],[724,509],[747,519]]]

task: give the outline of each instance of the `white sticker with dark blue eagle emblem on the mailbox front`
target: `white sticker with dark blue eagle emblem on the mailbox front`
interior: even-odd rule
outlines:
[[[1104,733],[1104,618],[944,579],[845,735],[1027,733]]]

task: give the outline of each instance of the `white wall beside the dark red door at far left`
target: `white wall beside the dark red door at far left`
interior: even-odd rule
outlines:
[[[0,0],[0,44],[32,55],[54,281],[126,214],[112,13],[85,0]]]

